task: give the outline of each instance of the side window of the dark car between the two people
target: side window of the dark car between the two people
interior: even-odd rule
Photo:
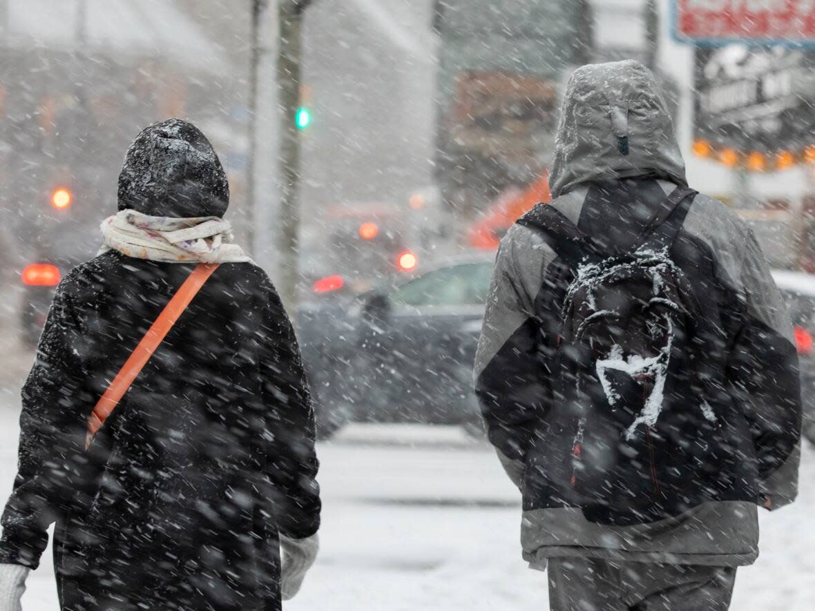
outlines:
[[[482,306],[491,274],[489,263],[443,267],[395,288],[390,299],[398,306]]]

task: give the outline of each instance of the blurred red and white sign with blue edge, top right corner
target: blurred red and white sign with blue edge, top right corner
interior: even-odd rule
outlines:
[[[815,42],[815,0],[674,0],[687,42]]]

